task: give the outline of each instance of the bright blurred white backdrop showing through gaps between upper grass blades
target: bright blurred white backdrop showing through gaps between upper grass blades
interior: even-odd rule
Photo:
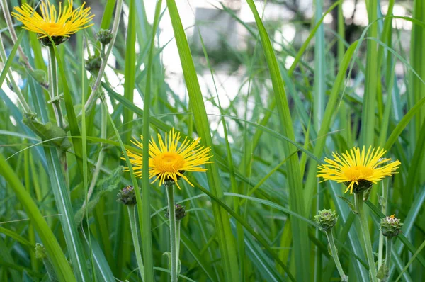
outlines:
[[[16,0],[8,0],[17,2]],[[54,3],[55,1],[52,1]],[[74,1],[78,3],[78,1]],[[306,38],[310,35],[311,27],[314,24],[314,2],[310,0],[270,0],[270,1],[254,1],[256,7],[263,18],[268,29],[268,35],[273,41],[273,47],[277,52],[277,56],[283,62],[285,68],[289,68],[295,60],[296,50],[299,50]],[[101,15],[103,13],[105,0],[86,1],[87,6],[95,15],[96,25],[101,23]],[[323,11],[326,11],[336,1],[323,2]],[[191,44],[191,51],[196,60],[196,67],[200,79],[200,86],[203,93],[209,94],[210,98],[220,97],[220,103],[223,107],[227,107],[232,103],[235,111],[239,108],[238,115],[252,116],[252,111],[256,106],[266,106],[268,90],[261,89],[263,95],[261,99],[256,101],[254,96],[249,96],[250,85],[244,83],[249,77],[249,73],[261,70],[263,67],[263,59],[261,57],[252,57],[261,52],[259,49],[258,38],[256,35],[254,16],[249,9],[246,1],[243,0],[227,0],[227,1],[207,1],[207,0],[177,0],[176,4],[181,13],[183,27]],[[387,13],[387,1],[380,1],[381,15]],[[394,16],[412,16],[413,1],[397,1],[393,7]],[[13,6],[13,5],[11,5]],[[144,1],[137,6],[138,11],[145,10],[147,23],[143,23],[140,18],[140,24],[152,25],[154,20],[155,1]],[[166,8],[163,3],[162,11]],[[365,1],[362,0],[344,0],[341,4],[342,14],[344,15],[344,45],[348,46],[353,41],[360,38],[364,28],[368,26],[368,13],[366,11]],[[324,16],[324,36],[327,40],[326,44],[326,60],[329,60],[325,71],[326,75],[333,76],[338,70],[337,40],[339,39],[337,30],[338,9],[332,9],[330,13]],[[1,19],[0,19],[1,20]],[[123,18],[121,21],[122,30],[127,28],[128,23],[128,5],[124,4]],[[5,26],[3,23],[1,26]],[[405,54],[409,53],[409,37],[412,30],[412,22],[395,18],[392,26],[397,30],[397,47]],[[143,35],[139,34],[140,37]],[[204,52],[200,42],[200,35],[203,38],[205,51],[208,52],[210,67],[214,69],[215,85],[211,77],[210,68],[205,60]],[[179,60],[179,52],[176,43],[173,40],[174,33],[168,13],[164,13],[159,23],[159,32],[157,36],[158,45],[162,46],[161,61],[164,66],[164,79],[166,86],[169,87],[179,98],[186,97],[186,86],[183,81],[183,72]],[[5,38],[7,41],[8,38]],[[118,35],[118,44],[125,42],[125,31]],[[140,45],[136,43],[137,52],[140,51]],[[47,50],[44,50],[45,59],[47,61]],[[365,54],[365,45],[361,46],[358,56]],[[109,59],[111,66],[116,65],[116,58],[111,55]],[[310,82],[314,78],[314,38],[312,38],[309,47],[302,56],[302,62],[307,67],[300,77]],[[144,65],[140,67],[144,68]],[[406,67],[403,62],[395,62],[395,74],[397,84],[399,84],[400,94],[406,91],[403,77]],[[356,87],[352,89],[351,94],[354,96],[363,96],[363,82],[365,77],[360,74],[357,76],[357,66],[353,66],[351,77],[346,82],[347,86]],[[295,74],[300,74],[299,69],[295,70]],[[18,74],[15,72],[16,76]],[[123,94],[123,75],[113,71],[113,67],[107,69],[106,74],[111,81],[115,82],[114,89]],[[356,77],[356,79],[354,79]],[[262,81],[268,81],[267,77],[257,77]],[[255,79],[254,79],[255,80]],[[254,84],[255,86],[255,81]],[[13,98],[13,92],[6,85],[2,86],[4,91]],[[305,101],[305,91],[298,89],[295,84],[295,90],[300,95],[302,101]],[[212,94],[213,93],[213,94]],[[248,94],[246,96],[246,94]],[[307,94],[308,95],[308,94]],[[243,98],[244,97],[244,98]],[[245,100],[246,98],[246,100]],[[170,103],[174,103],[170,99]],[[258,100],[258,99],[257,99]],[[135,104],[142,107],[142,97],[135,95]],[[308,102],[308,101],[307,101]],[[239,103],[246,106],[238,107]],[[260,105],[258,104],[260,103]],[[207,101],[210,113],[219,114],[214,103]],[[245,105],[246,104],[246,105]],[[110,110],[112,107],[110,106]],[[241,110],[242,109],[242,110]],[[212,128],[217,130],[219,118],[211,117]],[[220,136],[224,137],[223,130],[218,129]]]

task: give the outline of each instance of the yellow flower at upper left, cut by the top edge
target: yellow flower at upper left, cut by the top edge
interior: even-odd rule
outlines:
[[[69,37],[78,30],[89,28],[94,23],[90,23],[94,15],[90,15],[90,8],[84,8],[84,2],[81,7],[73,10],[72,0],[68,0],[67,8],[62,10],[62,3],[59,4],[59,13],[55,6],[50,4],[49,0],[42,0],[40,3],[41,16],[33,7],[28,4],[22,4],[21,7],[15,7],[16,12],[12,12],[18,21],[23,23],[26,30],[39,33],[39,38],[51,37]]]

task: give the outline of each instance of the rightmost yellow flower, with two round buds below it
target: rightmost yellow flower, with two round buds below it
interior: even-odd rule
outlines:
[[[334,159],[325,158],[327,164],[319,164],[319,174],[317,177],[322,177],[324,180],[333,180],[338,183],[344,182],[347,188],[344,193],[350,190],[353,193],[354,184],[356,186],[376,184],[378,181],[395,174],[395,170],[401,164],[399,160],[389,162],[391,159],[382,159],[385,154],[384,149],[378,147],[377,150],[370,146],[368,152],[365,152],[365,147],[360,152],[360,148],[354,147],[350,152],[342,154],[332,153]],[[383,165],[385,164],[385,165]]]

